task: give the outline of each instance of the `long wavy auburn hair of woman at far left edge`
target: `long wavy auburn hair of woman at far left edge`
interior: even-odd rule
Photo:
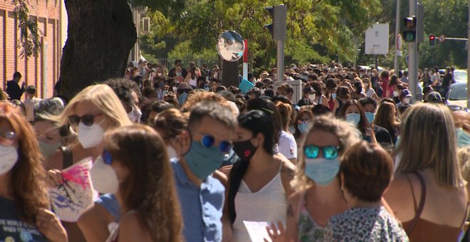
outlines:
[[[10,123],[19,144],[19,159],[10,171],[17,216],[27,223],[35,223],[38,211],[49,208],[46,170],[41,163],[38,141],[19,110],[6,102],[0,103],[0,120]]]

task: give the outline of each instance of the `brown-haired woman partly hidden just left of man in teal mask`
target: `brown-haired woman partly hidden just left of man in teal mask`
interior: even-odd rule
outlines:
[[[163,137],[167,144],[168,158],[179,158],[182,155],[182,146],[179,136],[187,132],[187,117],[176,108],[170,108],[160,112],[150,125]]]

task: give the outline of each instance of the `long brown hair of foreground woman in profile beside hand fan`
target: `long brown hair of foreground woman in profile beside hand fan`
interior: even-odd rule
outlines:
[[[105,150],[129,169],[120,183],[123,213],[135,210],[152,241],[182,241],[182,215],[162,137],[151,127],[131,125],[105,134]]]

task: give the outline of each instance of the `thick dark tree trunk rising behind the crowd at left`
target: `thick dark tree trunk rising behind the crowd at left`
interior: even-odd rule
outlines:
[[[60,95],[122,77],[137,40],[127,0],[65,0],[68,38],[61,60]]]

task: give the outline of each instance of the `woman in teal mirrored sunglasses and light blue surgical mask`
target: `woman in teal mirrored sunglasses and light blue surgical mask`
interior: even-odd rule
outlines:
[[[360,135],[332,115],[315,117],[310,124],[303,148],[299,149],[293,181],[297,192],[288,200],[286,232],[271,236],[273,241],[324,241],[328,219],[348,209],[338,179],[340,156],[360,141]]]

